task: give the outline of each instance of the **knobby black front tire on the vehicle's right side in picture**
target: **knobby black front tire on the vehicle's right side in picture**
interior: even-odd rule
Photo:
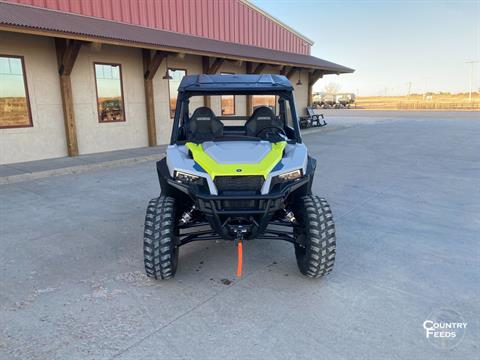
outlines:
[[[302,225],[297,232],[295,256],[300,272],[311,278],[328,275],[335,263],[335,224],[327,200],[315,195],[299,199],[295,218]]]

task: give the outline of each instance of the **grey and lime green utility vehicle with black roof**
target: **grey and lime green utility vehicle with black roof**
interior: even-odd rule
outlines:
[[[248,116],[216,116],[203,106],[219,103],[222,95],[252,105],[255,95],[271,96],[276,106],[257,103]],[[298,268],[308,277],[330,273],[332,212],[312,194],[316,161],[302,142],[286,77],[185,76],[166,153],[157,163],[161,195],[150,201],[145,218],[149,277],[172,278],[180,246],[222,239],[237,246],[240,276],[242,244],[254,238],[292,243]]]

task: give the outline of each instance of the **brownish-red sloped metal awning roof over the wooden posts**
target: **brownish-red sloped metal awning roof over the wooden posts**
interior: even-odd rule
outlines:
[[[3,25],[3,26],[1,26]],[[354,70],[310,55],[206,39],[165,30],[0,2],[0,30],[32,29],[48,36],[82,38],[126,46],[159,48],[271,64],[314,68],[328,73]]]

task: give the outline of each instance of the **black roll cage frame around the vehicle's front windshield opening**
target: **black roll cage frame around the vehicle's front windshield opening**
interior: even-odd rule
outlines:
[[[211,91],[179,91],[177,96],[177,103],[175,108],[175,117],[173,119],[172,135],[170,137],[170,145],[177,143],[178,131],[185,116],[188,116],[188,105],[192,96],[214,96],[214,95],[275,95],[280,98],[278,101],[280,106],[280,114],[285,113],[285,101],[288,101],[293,122],[294,139],[296,143],[302,143],[300,135],[300,125],[298,122],[297,110],[295,108],[295,100],[291,91],[274,91],[274,90],[211,90]],[[182,120],[182,124],[180,121]]]

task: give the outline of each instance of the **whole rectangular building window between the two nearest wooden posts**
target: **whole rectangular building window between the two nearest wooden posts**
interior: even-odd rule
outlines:
[[[94,65],[99,121],[101,123],[125,121],[121,65],[102,63]]]

